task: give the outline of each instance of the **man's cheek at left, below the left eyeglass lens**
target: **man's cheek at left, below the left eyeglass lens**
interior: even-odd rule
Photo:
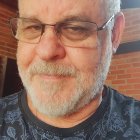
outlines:
[[[23,69],[26,69],[32,62],[34,57],[33,47],[26,46],[25,44],[18,44],[17,49],[17,64],[22,66]]]

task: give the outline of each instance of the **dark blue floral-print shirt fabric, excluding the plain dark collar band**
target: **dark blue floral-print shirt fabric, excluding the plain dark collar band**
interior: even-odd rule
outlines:
[[[0,140],[140,140],[140,102],[113,92],[109,96],[111,104],[97,122],[67,136],[25,118],[18,94],[0,99]]]

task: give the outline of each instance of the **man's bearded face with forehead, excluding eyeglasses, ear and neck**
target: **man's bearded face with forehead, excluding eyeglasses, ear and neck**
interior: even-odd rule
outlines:
[[[81,16],[101,25],[101,5],[94,0],[20,0],[19,11],[21,17],[42,23]],[[99,34],[100,38],[95,34],[78,48],[60,44],[53,28],[45,31],[38,44],[19,41],[19,74],[28,98],[39,112],[54,117],[67,115],[99,94],[111,60],[110,36],[107,31]]]

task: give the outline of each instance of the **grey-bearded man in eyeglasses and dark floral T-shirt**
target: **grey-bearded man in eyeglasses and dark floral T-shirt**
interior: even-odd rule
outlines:
[[[0,100],[1,140],[140,138],[140,103],[104,86],[119,0],[19,0],[10,25],[25,90]]]

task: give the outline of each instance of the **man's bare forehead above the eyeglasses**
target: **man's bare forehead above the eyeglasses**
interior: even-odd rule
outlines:
[[[56,22],[67,16],[103,16],[103,0],[19,0],[20,16]]]

